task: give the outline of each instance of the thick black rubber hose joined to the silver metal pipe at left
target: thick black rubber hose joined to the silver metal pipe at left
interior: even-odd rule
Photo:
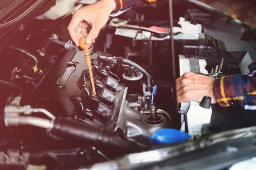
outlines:
[[[112,147],[126,150],[127,153],[140,150],[140,147],[137,145],[119,139],[114,133],[107,132],[97,126],[63,117],[55,119],[51,133],[62,139],[75,141],[78,144],[104,148]]]

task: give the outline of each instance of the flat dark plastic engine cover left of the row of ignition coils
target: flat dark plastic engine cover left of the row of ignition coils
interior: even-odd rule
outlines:
[[[77,82],[81,73],[88,69],[83,51],[67,51],[62,58],[55,63],[53,68],[47,74],[43,82],[38,85],[36,91],[32,94],[32,100],[36,102],[37,107],[46,108],[55,116],[71,116],[75,106],[70,102],[71,96],[80,96],[81,90]],[[97,54],[90,56],[93,59]],[[57,86],[58,80],[63,76],[68,62],[76,63],[76,69],[71,74],[64,88]]]

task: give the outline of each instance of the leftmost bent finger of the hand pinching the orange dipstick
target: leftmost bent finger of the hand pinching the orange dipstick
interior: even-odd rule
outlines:
[[[79,26],[79,23],[82,21],[82,19],[75,13],[72,17],[72,20],[70,21],[69,26],[67,27],[70,37],[75,42],[76,46],[79,46],[79,39],[76,36],[76,29]]]

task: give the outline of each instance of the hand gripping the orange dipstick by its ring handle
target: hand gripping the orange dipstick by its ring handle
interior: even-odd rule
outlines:
[[[76,46],[79,46],[79,40],[83,37],[86,37],[88,45],[93,43],[115,8],[116,3],[114,0],[100,0],[75,11],[67,29]],[[87,28],[89,25],[92,28],[88,33]]]

